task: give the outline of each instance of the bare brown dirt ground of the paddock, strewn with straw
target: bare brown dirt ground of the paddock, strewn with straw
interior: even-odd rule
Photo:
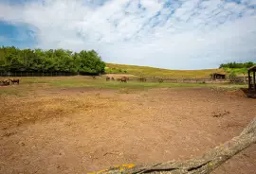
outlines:
[[[256,100],[209,88],[70,88],[0,96],[0,173],[86,173],[187,160],[256,116]],[[214,173],[253,174],[256,146]]]

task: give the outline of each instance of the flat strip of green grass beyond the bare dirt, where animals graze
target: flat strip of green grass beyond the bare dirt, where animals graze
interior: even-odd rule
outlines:
[[[128,81],[106,81],[104,78],[92,79],[90,77],[46,77],[46,78],[21,78],[20,85],[11,85],[0,88],[0,95],[26,96],[38,90],[51,88],[99,88],[99,89],[135,89],[144,90],[150,88],[186,88],[186,87],[221,87],[228,89],[245,88],[247,85],[234,84],[208,84],[208,83],[158,83]],[[130,93],[131,91],[121,93]]]

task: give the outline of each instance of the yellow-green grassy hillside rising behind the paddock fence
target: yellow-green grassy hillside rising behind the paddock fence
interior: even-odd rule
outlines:
[[[169,77],[169,78],[210,78],[211,73],[225,73],[223,69],[204,69],[204,70],[169,70],[148,66],[136,66],[125,64],[106,63],[106,72],[109,69],[126,70],[128,74],[141,77]],[[117,71],[118,72],[118,71]]]

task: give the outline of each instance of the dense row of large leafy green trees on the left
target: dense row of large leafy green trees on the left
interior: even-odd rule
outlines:
[[[100,74],[105,62],[94,50],[72,52],[64,49],[19,49],[0,47],[1,72],[66,72]]]

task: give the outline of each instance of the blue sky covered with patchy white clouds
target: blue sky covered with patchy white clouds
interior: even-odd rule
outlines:
[[[0,0],[0,45],[168,69],[256,61],[256,0]]]

